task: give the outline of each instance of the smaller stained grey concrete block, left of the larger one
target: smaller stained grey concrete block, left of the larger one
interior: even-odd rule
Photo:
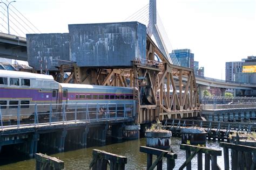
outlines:
[[[41,58],[43,70],[46,60],[48,70],[57,70],[55,66],[63,63],[60,60],[70,60],[69,33],[26,34],[26,44],[29,65],[36,70],[41,69]]]

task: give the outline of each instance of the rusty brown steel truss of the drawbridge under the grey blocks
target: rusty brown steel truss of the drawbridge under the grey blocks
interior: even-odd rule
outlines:
[[[157,118],[185,118],[200,111],[198,89],[193,69],[172,65],[147,36],[146,60],[134,59],[132,68],[86,68],[62,65],[60,82],[134,87],[137,100],[136,123]],[[157,54],[161,62],[154,61]],[[71,72],[64,81],[64,72]],[[130,80],[127,84],[126,79]],[[167,93],[169,91],[169,93]],[[181,93],[180,93],[181,91]],[[146,102],[145,102],[146,101]]]

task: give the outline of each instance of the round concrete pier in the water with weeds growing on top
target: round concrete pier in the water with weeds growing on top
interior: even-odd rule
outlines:
[[[171,146],[172,132],[167,130],[146,131],[146,146],[167,150]]]

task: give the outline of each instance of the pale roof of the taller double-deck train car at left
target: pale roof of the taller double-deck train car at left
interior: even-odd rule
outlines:
[[[10,71],[10,70],[0,70],[0,76],[54,80],[51,75],[36,74],[36,73],[29,73],[29,72],[18,72],[18,71]]]

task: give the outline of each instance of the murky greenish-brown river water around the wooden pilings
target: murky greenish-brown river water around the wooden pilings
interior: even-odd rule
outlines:
[[[176,166],[174,169],[178,169],[186,158],[184,150],[179,149],[181,138],[172,137],[171,144],[174,153],[177,153],[178,159],[176,160]],[[140,138],[138,140],[123,141],[122,143],[109,144],[105,146],[93,146],[83,149],[66,151],[57,154],[50,154],[52,157],[56,157],[64,161],[65,169],[89,169],[90,162],[92,160],[92,150],[99,149],[106,152],[119,154],[127,157],[127,164],[125,169],[146,169],[146,153],[139,152],[139,146],[146,146],[146,138]],[[219,147],[218,141],[207,141],[207,147],[223,150]],[[7,160],[8,159],[8,160]],[[13,160],[12,160],[13,159]],[[156,159],[153,156],[153,161]],[[22,158],[15,158],[10,156],[6,159],[0,158],[0,169],[35,169],[35,159],[22,160]],[[5,165],[4,165],[5,164]],[[204,154],[203,154],[204,164]],[[221,169],[224,169],[224,158],[218,157],[218,165]],[[197,169],[197,157],[192,159],[192,169]],[[166,169],[166,159],[163,160],[163,168]]]

